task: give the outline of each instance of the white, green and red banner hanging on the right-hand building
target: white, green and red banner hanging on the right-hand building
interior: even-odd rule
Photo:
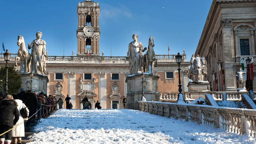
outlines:
[[[253,80],[253,56],[241,56],[240,57],[240,62],[241,62],[241,68],[242,71],[245,72],[244,74],[244,80],[247,80],[247,64],[246,64],[246,59],[249,57],[251,59],[251,64],[250,64],[250,72],[251,72],[251,80]]]

